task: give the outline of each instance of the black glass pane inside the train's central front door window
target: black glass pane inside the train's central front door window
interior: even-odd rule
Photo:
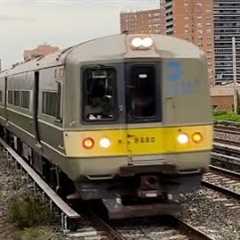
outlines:
[[[154,66],[133,66],[127,83],[127,109],[130,119],[154,118],[156,108],[156,77]]]

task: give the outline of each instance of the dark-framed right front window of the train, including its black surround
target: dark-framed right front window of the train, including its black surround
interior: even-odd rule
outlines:
[[[128,123],[161,121],[160,68],[160,63],[126,64]]]

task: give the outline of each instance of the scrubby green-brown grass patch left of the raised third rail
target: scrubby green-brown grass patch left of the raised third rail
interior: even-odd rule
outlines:
[[[8,204],[8,219],[20,229],[52,223],[48,207],[26,193],[14,196]],[[33,238],[34,239],[34,238]]]

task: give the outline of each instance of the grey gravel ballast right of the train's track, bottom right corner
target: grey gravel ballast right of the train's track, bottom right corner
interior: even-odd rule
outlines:
[[[181,219],[216,240],[240,239],[240,202],[202,187],[182,198]]]

